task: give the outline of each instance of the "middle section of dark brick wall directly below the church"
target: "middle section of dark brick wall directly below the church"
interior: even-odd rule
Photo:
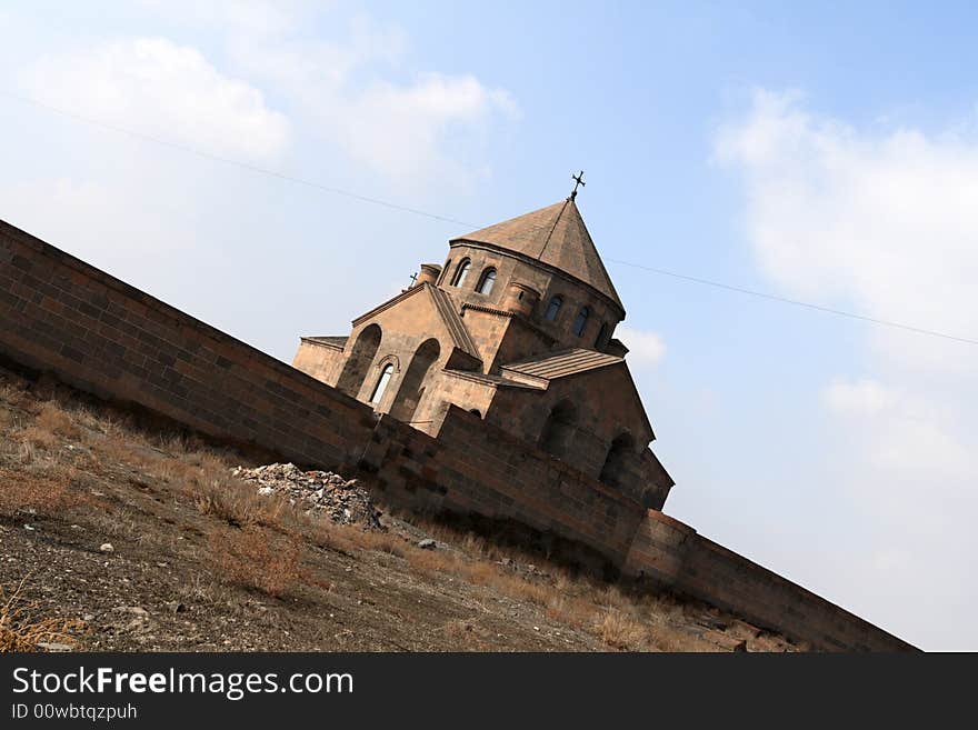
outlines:
[[[392,502],[520,523],[612,566],[645,517],[623,494],[451,404],[437,438],[385,417],[365,454]]]

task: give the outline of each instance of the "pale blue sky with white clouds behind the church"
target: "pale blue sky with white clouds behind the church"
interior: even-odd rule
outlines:
[[[736,4],[6,3],[0,217],[290,360],[583,169],[666,511],[978,649],[978,348],[616,262],[978,338],[976,11]]]

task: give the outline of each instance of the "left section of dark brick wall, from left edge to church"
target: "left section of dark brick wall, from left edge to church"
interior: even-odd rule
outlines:
[[[0,353],[295,461],[356,464],[370,408],[0,222]]]

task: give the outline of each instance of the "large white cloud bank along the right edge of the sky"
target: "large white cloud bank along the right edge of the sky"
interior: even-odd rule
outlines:
[[[775,287],[978,338],[974,121],[941,133],[861,129],[811,112],[798,93],[758,91],[718,131],[715,151],[739,173],[747,240]],[[865,526],[852,539],[866,552],[852,559],[872,591],[859,603],[929,648],[974,649],[978,348],[862,332],[860,368],[870,374],[825,387],[830,428],[817,444]]]

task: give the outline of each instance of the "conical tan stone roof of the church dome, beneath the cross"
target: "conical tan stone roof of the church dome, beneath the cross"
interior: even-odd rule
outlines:
[[[577,203],[567,199],[451,240],[488,243],[530,257],[590,284],[625,310]]]

